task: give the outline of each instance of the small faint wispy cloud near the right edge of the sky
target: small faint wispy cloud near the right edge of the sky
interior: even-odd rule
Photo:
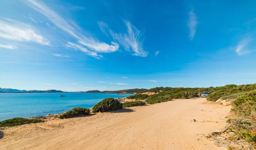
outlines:
[[[241,40],[239,42],[239,44],[236,46],[237,55],[241,56],[241,55],[248,54],[252,51],[255,51],[255,49],[251,50],[250,47],[249,47],[249,44],[250,44],[251,41],[252,41],[251,38],[246,38],[246,39]]]

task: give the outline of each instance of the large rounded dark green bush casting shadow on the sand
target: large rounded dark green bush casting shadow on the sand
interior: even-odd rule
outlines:
[[[122,103],[116,99],[106,98],[93,107],[93,113],[106,112],[111,110],[122,109]]]

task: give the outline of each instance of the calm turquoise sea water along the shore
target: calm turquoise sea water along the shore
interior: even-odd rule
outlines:
[[[66,97],[60,97],[65,95]],[[92,108],[102,99],[126,97],[116,93],[0,93],[0,121],[63,113],[75,107]]]

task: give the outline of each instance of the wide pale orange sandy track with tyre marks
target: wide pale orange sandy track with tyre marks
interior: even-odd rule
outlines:
[[[226,125],[230,106],[204,102],[180,99],[7,127],[0,150],[220,150],[203,134]]]

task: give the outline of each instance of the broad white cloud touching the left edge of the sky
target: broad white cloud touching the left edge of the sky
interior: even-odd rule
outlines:
[[[32,26],[9,18],[3,19],[0,20],[0,37],[49,45],[49,40],[38,34]]]

